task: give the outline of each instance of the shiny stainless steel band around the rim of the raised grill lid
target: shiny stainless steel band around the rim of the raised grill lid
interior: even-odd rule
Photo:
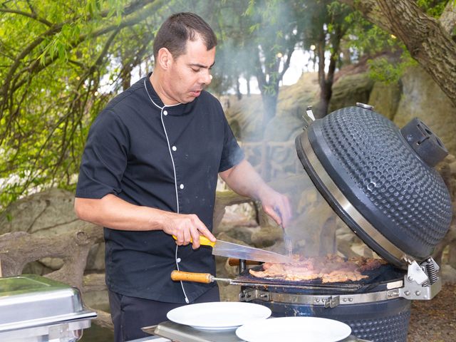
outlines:
[[[301,135],[301,145],[304,148],[304,152],[306,153],[306,157],[309,160],[309,164],[314,168],[316,174],[318,177],[320,177],[321,182],[323,182],[323,185],[333,196],[334,202],[336,202],[341,207],[341,209],[343,209],[343,211],[345,211],[346,214],[348,214],[348,216],[351,217],[353,221],[356,222],[356,224],[358,224],[359,227],[361,227],[378,245],[380,245],[380,247],[388,251],[397,259],[405,261],[413,260],[412,257],[408,256],[408,254],[403,252],[401,249],[398,249],[398,247],[395,247],[395,245],[389,242],[388,239],[383,236],[383,234],[378,232],[378,230],[375,229],[375,227],[373,227],[373,225],[368,222],[368,220],[365,219],[355,207],[353,207],[351,202],[348,201],[347,197],[343,195],[341,190],[339,190],[337,187],[336,183],[334,183],[331,177],[329,177],[323,165],[321,165],[320,160],[318,160],[314,149],[311,147],[311,143],[309,142],[309,137],[306,131],[304,131],[304,134]]]

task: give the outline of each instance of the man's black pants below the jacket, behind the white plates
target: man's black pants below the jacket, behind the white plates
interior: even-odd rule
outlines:
[[[219,301],[219,288],[214,286],[192,304]],[[109,291],[111,318],[114,323],[115,342],[125,342],[150,336],[141,328],[166,321],[168,311],[186,304],[164,303],[150,299],[123,296]]]

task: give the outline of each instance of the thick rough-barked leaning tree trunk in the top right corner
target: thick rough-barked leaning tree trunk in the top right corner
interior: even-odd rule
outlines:
[[[456,105],[456,42],[411,0],[341,0],[400,38],[413,58]]]

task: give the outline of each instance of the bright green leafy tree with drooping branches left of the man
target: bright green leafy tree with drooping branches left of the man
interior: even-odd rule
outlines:
[[[163,2],[3,4],[0,205],[33,187],[74,185],[90,122],[110,98],[100,84],[127,86],[151,51]]]

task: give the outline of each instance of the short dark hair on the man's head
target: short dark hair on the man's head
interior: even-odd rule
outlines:
[[[160,48],[167,48],[172,58],[185,53],[187,41],[202,38],[207,50],[217,46],[217,37],[212,28],[197,14],[181,12],[172,14],[162,24],[154,39],[154,57],[157,58]]]

